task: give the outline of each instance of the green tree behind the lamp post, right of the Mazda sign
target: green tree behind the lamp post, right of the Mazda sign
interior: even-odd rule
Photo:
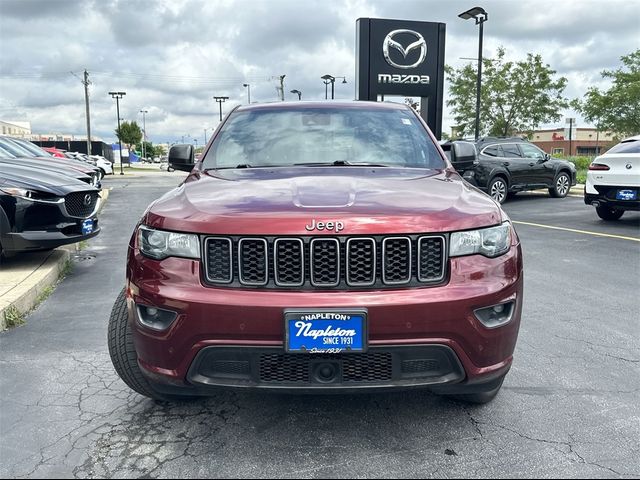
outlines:
[[[480,133],[509,136],[560,120],[560,111],[569,105],[562,96],[567,79],[554,80],[555,70],[544,64],[540,55],[528,53],[527,59],[519,62],[505,61],[504,56],[504,48],[499,48],[495,58],[482,61]],[[450,82],[447,106],[453,107],[460,134],[472,134],[477,66],[467,64],[454,69],[447,65],[445,71]]]

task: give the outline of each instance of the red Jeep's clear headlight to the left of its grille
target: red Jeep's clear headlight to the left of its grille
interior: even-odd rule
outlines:
[[[197,235],[165,232],[140,226],[138,246],[147,257],[162,260],[167,257],[200,258],[200,241]]]

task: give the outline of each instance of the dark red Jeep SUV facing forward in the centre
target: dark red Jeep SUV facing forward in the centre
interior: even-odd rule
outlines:
[[[520,243],[412,109],[238,107],[195,164],[191,146],[169,157],[190,174],[136,227],[109,323],[132,389],[498,393],[520,325]]]

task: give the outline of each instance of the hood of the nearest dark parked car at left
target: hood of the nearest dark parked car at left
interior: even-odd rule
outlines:
[[[28,188],[60,196],[70,192],[98,191],[96,188],[67,175],[8,163],[0,163],[0,182],[3,185]]]

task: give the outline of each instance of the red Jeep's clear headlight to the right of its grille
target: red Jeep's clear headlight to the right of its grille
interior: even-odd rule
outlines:
[[[511,224],[504,222],[497,227],[454,232],[451,234],[449,256],[459,257],[479,253],[485,257],[497,257],[511,246]]]

